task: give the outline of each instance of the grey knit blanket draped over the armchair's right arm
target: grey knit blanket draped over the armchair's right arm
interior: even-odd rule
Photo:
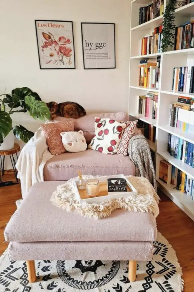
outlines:
[[[135,164],[136,176],[149,180],[157,192],[157,183],[152,156],[146,138],[141,134],[131,137],[128,147],[129,158]]]

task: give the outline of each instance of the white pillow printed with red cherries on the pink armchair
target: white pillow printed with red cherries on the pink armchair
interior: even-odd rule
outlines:
[[[115,120],[95,118],[95,134],[88,148],[109,155],[115,154],[126,126]]]

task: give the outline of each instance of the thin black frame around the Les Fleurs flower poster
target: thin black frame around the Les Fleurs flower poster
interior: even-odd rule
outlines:
[[[74,57],[74,66],[73,67],[63,67],[63,68],[42,68],[41,66],[41,58],[40,58],[40,48],[39,48],[39,45],[38,45],[38,32],[37,32],[37,22],[60,22],[60,23],[71,23],[71,27],[72,27],[72,47],[73,47],[73,57]],[[38,60],[39,60],[39,67],[41,70],[47,70],[47,69],[55,69],[55,70],[58,70],[58,69],[75,69],[75,46],[74,46],[74,33],[73,33],[73,22],[72,21],[69,21],[69,20],[45,20],[45,19],[35,19],[35,30],[36,30],[36,42],[37,42],[37,48],[38,48]]]

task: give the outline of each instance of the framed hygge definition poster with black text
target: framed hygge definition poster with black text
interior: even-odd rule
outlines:
[[[81,23],[84,69],[115,68],[115,24]]]

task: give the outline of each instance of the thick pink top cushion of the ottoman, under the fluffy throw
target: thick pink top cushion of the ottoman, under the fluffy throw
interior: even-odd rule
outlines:
[[[5,228],[6,241],[152,242],[156,239],[156,222],[151,213],[115,210],[109,217],[94,220],[52,205],[49,199],[61,183],[37,182],[32,186]]]

